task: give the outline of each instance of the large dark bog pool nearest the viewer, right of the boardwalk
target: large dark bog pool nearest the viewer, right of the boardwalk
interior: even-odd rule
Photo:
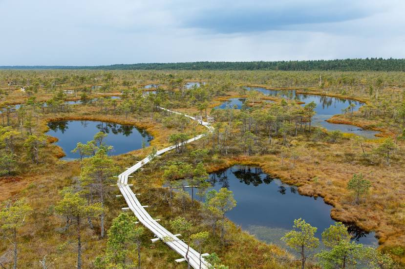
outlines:
[[[260,168],[235,165],[210,174],[209,181],[212,189],[227,188],[234,192],[237,205],[226,216],[262,241],[283,244],[280,238],[292,230],[294,219],[298,218],[317,227],[319,238],[323,230],[335,223],[330,217],[332,206],[321,197],[300,195],[297,187],[271,178]],[[359,243],[378,245],[374,232],[364,232],[354,225],[348,228]]]

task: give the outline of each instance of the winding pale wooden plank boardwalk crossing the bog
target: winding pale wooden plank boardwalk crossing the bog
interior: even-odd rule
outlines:
[[[195,117],[185,115],[179,112],[173,112],[168,109],[160,107],[162,110],[169,111],[171,113],[179,114],[179,115],[184,115],[188,118],[191,118],[192,120],[196,120]],[[199,120],[198,121],[201,125],[207,127],[210,131],[213,131],[213,127],[210,126],[208,122]],[[197,139],[200,139],[203,135],[197,135],[189,140],[186,141],[186,143],[190,143],[192,141],[195,141]],[[163,150],[160,150],[156,153],[156,155],[161,155],[164,154],[165,152],[168,152],[172,149],[174,149],[175,146],[170,146],[168,148],[165,148]],[[177,236],[179,235],[174,235],[170,231],[166,230],[162,225],[157,223],[156,220],[154,220],[149,213],[145,210],[145,207],[141,205],[139,202],[138,198],[136,197],[137,194],[133,193],[130,186],[128,185],[128,176],[134,172],[136,172],[138,169],[140,169],[142,166],[147,164],[150,161],[149,157],[146,157],[145,159],[137,162],[135,165],[132,167],[128,168],[128,170],[124,171],[118,176],[118,182],[117,186],[120,189],[120,192],[122,193],[122,196],[125,198],[125,201],[128,204],[128,209],[131,210],[135,216],[138,218],[138,220],[150,231],[152,231],[155,236],[158,239],[163,239],[166,236],[170,236],[173,241],[171,242],[165,242],[172,250],[176,251],[179,253],[181,256],[183,256],[184,259],[186,259],[186,252],[187,252],[187,244],[184,243],[181,239],[179,239]],[[200,256],[201,253],[199,253],[196,250],[193,250],[192,248],[189,249],[189,263],[194,269],[199,269],[200,268]],[[187,260],[187,259],[186,259]],[[203,257],[201,257],[201,269],[208,269],[210,264],[205,261]]]

